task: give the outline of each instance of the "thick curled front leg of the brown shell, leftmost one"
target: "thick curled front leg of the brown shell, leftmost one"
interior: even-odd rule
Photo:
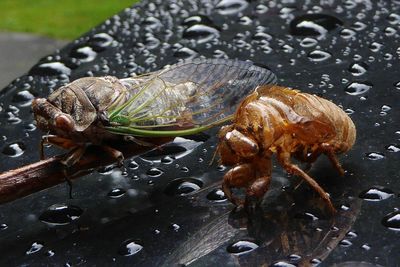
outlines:
[[[256,178],[256,171],[252,164],[246,163],[233,167],[224,175],[222,190],[225,196],[236,206],[244,204],[243,199],[235,197],[232,188],[244,188]]]

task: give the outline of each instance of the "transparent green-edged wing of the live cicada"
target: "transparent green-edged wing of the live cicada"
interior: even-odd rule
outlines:
[[[251,62],[194,59],[122,79],[129,97],[109,110],[114,133],[176,136],[229,120],[242,99],[276,76]]]

